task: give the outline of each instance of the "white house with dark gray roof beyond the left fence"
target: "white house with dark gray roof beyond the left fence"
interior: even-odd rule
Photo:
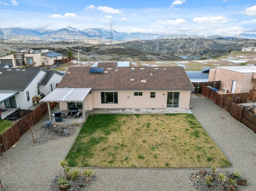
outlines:
[[[28,109],[32,97],[49,94],[60,83],[62,73],[43,68],[0,68],[0,108]]]

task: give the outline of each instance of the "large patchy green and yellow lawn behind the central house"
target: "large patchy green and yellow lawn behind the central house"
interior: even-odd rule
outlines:
[[[193,114],[91,114],[66,160],[78,167],[228,167]]]

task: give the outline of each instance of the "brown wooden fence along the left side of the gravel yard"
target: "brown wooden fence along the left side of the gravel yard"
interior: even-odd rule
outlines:
[[[51,109],[56,106],[56,102],[50,103]],[[45,114],[48,113],[47,103],[43,103],[38,108],[18,120],[6,132],[0,135],[0,155],[13,146],[20,137],[30,129],[30,126],[37,124]]]

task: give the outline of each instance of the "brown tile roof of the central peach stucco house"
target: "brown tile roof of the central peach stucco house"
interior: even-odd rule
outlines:
[[[58,88],[92,88],[94,90],[194,89],[183,67],[134,67],[134,69],[118,67],[118,71],[116,68],[105,68],[103,73],[89,73],[91,68],[70,67]],[[131,79],[134,80],[131,81]],[[142,82],[142,80],[146,82]]]

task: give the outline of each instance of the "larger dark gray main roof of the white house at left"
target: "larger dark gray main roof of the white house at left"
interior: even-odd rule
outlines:
[[[0,92],[24,91],[40,71],[48,72],[48,70],[38,67],[0,68]]]

